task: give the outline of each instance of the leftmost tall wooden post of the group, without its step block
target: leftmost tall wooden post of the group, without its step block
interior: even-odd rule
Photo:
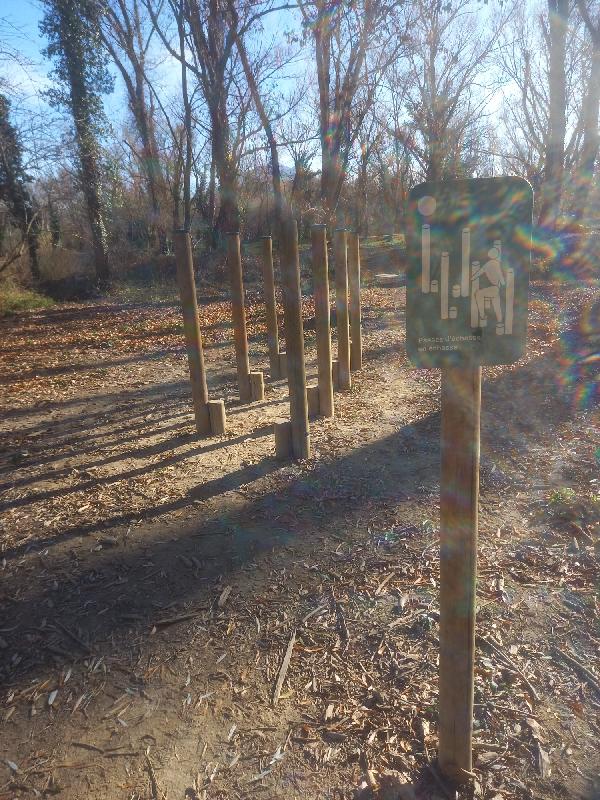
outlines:
[[[192,260],[192,244],[188,231],[175,231],[175,263],[177,266],[177,282],[183,310],[183,330],[187,345],[194,418],[196,430],[201,436],[211,432],[210,415],[207,408],[208,388],[204,370],[204,354],[202,351],[202,334],[198,322],[198,302],[196,299],[196,283],[194,281],[194,263]]]

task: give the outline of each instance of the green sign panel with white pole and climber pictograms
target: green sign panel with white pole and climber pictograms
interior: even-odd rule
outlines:
[[[522,178],[412,190],[406,349],[415,366],[512,364],[523,355],[532,214]]]

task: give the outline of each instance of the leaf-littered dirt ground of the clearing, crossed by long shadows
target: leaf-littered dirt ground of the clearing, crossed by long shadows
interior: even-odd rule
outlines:
[[[208,440],[176,303],[0,323],[2,800],[454,796],[435,768],[439,373],[406,360],[402,288],[363,304],[364,368],[300,464],[275,459],[283,382],[236,401],[223,299],[201,307],[228,413]],[[464,797],[599,796],[597,309],[534,286],[527,356],[484,374]]]

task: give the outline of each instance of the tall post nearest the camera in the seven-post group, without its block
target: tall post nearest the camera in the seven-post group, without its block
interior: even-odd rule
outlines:
[[[302,327],[302,295],[300,292],[300,259],[298,228],[295,219],[281,226],[281,276],[287,353],[288,387],[292,451],[295,459],[310,458],[310,432],[306,401],[306,368],[304,365],[304,330]]]

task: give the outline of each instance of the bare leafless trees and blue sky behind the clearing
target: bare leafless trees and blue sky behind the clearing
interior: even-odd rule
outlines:
[[[0,269],[38,279],[44,241],[106,286],[174,229],[209,252],[289,214],[401,233],[425,179],[522,175],[549,235],[598,225],[600,0],[43,6],[61,137],[11,112],[0,44]]]

